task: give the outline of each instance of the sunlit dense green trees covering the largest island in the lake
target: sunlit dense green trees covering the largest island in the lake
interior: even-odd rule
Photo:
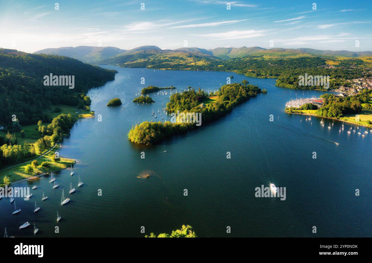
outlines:
[[[201,113],[203,123],[212,121],[230,112],[239,103],[242,103],[250,97],[257,96],[261,89],[257,86],[244,85],[240,83],[227,84],[216,92],[217,99],[211,103],[203,103],[207,94],[199,88],[198,92],[194,89],[175,93],[170,96],[170,102],[167,103],[167,110],[170,112],[188,112]],[[155,144],[165,137],[173,134],[186,132],[188,128],[195,126],[195,123],[188,122],[142,122],[135,125],[128,133],[128,139],[139,144]]]

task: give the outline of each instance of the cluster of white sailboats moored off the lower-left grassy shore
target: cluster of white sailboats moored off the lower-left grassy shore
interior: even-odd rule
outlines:
[[[73,171],[73,167],[72,167],[72,164],[71,164],[71,173],[70,175],[72,176],[74,174],[74,171]],[[49,180],[49,183],[54,183],[54,186],[52,187],[52,189],[56,189],[59,184],[55,182],[55,177],[53,177],[53,173],[51,173],[51,179]],[[78,176],[78,187],[82,186],[83,185],[83,182],[81,182],[80,180],[80,176]],[[38,186],[33,186],[32,187],[32,190],[36,190],[38,188]],[[76,191],[75,188],[72,188],[72,183],[70,183],[70,191],[69,193],[72,194]],[[26,200],[29,200],[32,196],[32,193],[29,193],[27,196],[26,196]],[[48,199],[48,196],[45,196],[44,195],[44,192],[43,192],[43,195],[42,195],[42,198],[41,198],[41,201],[45,201]],[[14,200],[14,198],[10,198],[10,203],[13,203],[14,202],[14,212],[12,213],[12,215],[15,215],[15,214],[18,214],[20,211],[22,211],[20,208],[16,208],[16,201]],[[64,189],[62,189],[62,198],[61,198],[61,205],[65,205],[66,203],[70,202],[70,198],[65,198],[65,195],[64,195]],[[40,207],[36,205],[36,202],[35,202],[35,209],[33,210],[33,213],[37,213],[40,211]],[[58,214],[58,211],[57,211],[57,223],[61,220],[61,216]],[[31,225],[29,222],[25,222],[23,225],[21,225],[19,227],[19,229],[22,229],[22,228],[26,228],[28,227],[29,225]],[[39,231],[39,228],[36,228],[35,226],[35,223],[33,223],[33,234],[36,235],[36,233]],[[5,234],[4,234],[4,237],[8,237],[8,234],[6,232],[6,228],[5,228]],[[13,236],[9,236],[9,237],[13,237]]]

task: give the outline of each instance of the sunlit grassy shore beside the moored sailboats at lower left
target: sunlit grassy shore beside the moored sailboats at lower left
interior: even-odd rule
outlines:
[[[26,173],[25,167],[28,164],[31,164],[31,160],[27,161],[26,163],[21,163],[16,166],[10,167],[6,170],[0,171],[0,182],[3,182],[4,176],[7,176],[10,178],[10,182],[16,182],[18,180],[26,179],[28,177],[36,176],[41,173],[50,173],[52,171],[58,171],[61,169],[65,169],[71,165],[71,163],[75,163],[72,159],[67,158],[60,158],[58,162],[54,162],[52,158],[54,158],[55,151],[58,151],[60,146],[57,144],[52,151],[50,151],[48,154],[41,156],[37,158],[38,165],[40,165],[43,161],[49,162],[50,167],[35,167],[34,171],[32,173]]]

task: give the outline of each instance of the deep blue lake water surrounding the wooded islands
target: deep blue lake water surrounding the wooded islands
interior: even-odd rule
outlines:
[[[170,234],[183,224],[191,225],[199,237],[372,236],[372,132],[365,137],[347,134],[349,124],[339,132],[340,121],[324,119],[322,126],[321,118],[306,121],[306,116],[284,111],[285,103],[296,96],[318,97],[324,92],[276,87],[274,79],[226,72],[102,67],[119,73],[115,80],[89,90],[96,117],[78,121],[62,142],[60,155],[77,161],[74,175],[70,169],[56,173],[60,187],[54,190],[49,177],[17,184],[38,189],[31,190],[29,201],[16,199],[22,209],[17,215],[12,215],[14,203],[9,198],[0,200],[1,231],[6,227],[10,235],[33,237],[32,226],[18,229],[29,221],[39,228],[37,237],[143,237],[142,226],[146,234]],[[132,100],[142,88],[217,90],[231,75],[232,82],[246,79],[267,89],[267,94],[158,145],[128,140],[132,125],[151,121],[153,109],[161,121],[162,108],[169,102],[170,90],[150,94],[155,100],[151,105],[137,105]],[[123,105],[107,107],[115,97]],[[333,126],[328,129],[330,122]],[[78,176],[82,187],[77,187]],[[76,187],[71,195],[70,183]],[[270,183],[286,187],[284,201],[255,197],[256,187]],[[71,198],[64,206],[62,189]],[[41,201],[43,192],[46,201]],[[41,210],[33,214],[35,201]],[[57,210],[62,217],[58,224]]]

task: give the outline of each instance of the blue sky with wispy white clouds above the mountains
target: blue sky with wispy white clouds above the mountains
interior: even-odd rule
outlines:
[[[372,51],[371,13],[371,0],[0,0],[0,47]]]

